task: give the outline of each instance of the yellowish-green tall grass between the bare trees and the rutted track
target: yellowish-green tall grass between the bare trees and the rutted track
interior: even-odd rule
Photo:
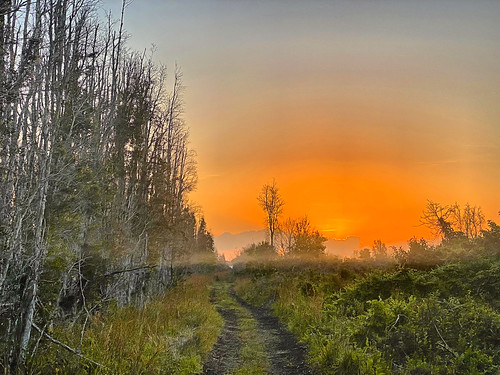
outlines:
[[[81,341],[80,359],[45,339],[30,362],[32,374],[196,374],[217,340],[223,321],[210,303],[211,279],[192,276],[143,309],[110,307],[94,314]],[[81,324],[50,334],[80,347]]]

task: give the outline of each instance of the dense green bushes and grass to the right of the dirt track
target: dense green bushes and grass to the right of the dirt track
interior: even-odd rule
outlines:
[[[356,278],[275,271],[237,282],[308,346],[318,374],[498,374],[500,262],[430,271],[374,270]]]

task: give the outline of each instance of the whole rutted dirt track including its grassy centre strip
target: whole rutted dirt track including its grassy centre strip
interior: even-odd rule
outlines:
[[[225,324],[205,362],[204,374],[311,373],[305,348],[271,311],[249,305],[228,282],[215,284],[212,301]]]

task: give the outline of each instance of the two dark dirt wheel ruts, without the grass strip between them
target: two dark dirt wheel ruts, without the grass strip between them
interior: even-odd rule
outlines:
[[[239,308],[244,308],[257,322],[257,334],[261,339],[269,359],[267,373],[273,375],[306,375],[311,371],[306,365],[305,348],[295,336],[288,332],[278,318],[265,308],[255,307],[236,295],[233,288],[229,289],[229,297]],[[238,318],[235,310],[217,307],[224,318],[225,325],[208,360],[203,368],[205,375],[230,374],[241,365],[238,355],[242,347],[238,335]]]

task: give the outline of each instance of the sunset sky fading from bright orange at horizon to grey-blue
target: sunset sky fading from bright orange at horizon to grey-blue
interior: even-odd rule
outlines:
[[[125,28],[183,72],[215,235],[263,228],[273,179],[284,216],[362,246],[428,238],[428,199],[499,221],[499,1],[135,0]]]

